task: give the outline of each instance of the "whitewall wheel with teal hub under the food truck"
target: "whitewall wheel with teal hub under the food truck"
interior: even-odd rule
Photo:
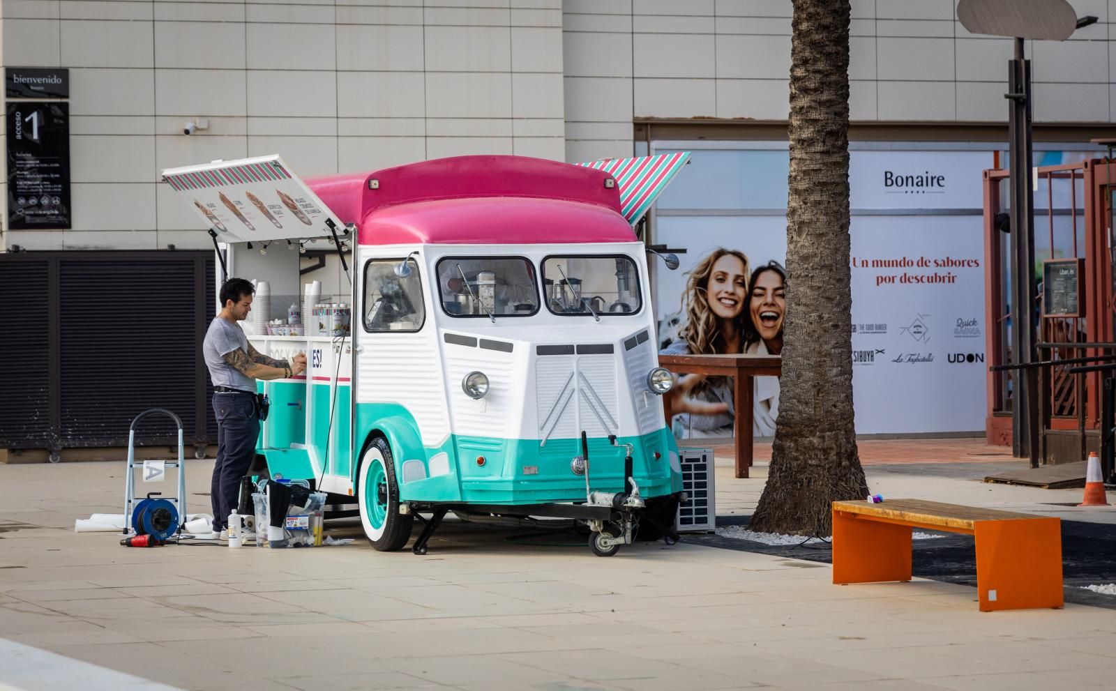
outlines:
[[[400,514],[400,487],[387,440],[372,440],[360,459],[360,525],[377,551],[402,549],[411,539],[414,516]]]

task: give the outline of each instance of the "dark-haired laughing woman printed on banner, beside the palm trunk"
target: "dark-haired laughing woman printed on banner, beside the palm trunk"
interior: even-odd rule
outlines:
[[[782,353],[782,320],[787,315],[787,271],[778,261],[769,261],[752,271],[748,281],[748,327],[744,352],[752,355]],[[757,376],[752,390],[752,434],[773,436],[779,416],[779,377]]]

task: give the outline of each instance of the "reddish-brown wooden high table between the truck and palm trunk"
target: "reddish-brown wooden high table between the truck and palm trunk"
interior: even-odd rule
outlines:
[[[782,374],[779,355],[660,355],[658,364],[676,374],[705,374],[732,377],[732,401],[737,411],[737,477],[747,478],[752,464],[752,377]],[[663,396],[666,425],[674,411]]]

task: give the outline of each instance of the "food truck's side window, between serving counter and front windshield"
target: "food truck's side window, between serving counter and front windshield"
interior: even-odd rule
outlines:
[[[372,259],[364,265],[364,330],[417,332],[426,320],[419,265],[406,259]],[[407,273],[407,276],[400,276]]]

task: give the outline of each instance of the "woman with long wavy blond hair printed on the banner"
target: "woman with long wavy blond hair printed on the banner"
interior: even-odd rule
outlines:
[[[718,248],[689,271],[683,310],[686,324],[663,355],[743,353],[751,329],[748,306],[748,256]],[[732,436],[735,411],[732,381],[690,374],[667,394],[690,436]]]

